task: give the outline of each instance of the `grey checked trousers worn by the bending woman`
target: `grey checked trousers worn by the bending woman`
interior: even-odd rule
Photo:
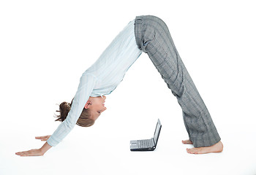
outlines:
[[[184,124],[194,147],[208,147],[220,141],[211,115],[200,97],[184,63],[160,18],[151,15],[135,18],[135,39],[167,83],[183,112]]]

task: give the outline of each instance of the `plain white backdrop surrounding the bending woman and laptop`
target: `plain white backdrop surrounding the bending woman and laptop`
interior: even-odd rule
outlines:
[[[256,174],[254,1],[0,1],[0,174]],[[75,126],[42,157],[54,113],[80,75],[137,15],[167,24],[224,144],[189,155],[181,108],[143,53],[91,128]],[[154,152],[129,140],[162,132]]]

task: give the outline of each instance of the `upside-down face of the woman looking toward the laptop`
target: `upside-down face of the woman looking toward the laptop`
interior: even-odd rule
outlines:
[[[105,96],[97,96],[97,97],[90,97],[86,103],[85,108],[90,109],[91,111],[91,119],[97,120],[100,114],[104,112],[107,108],[105,107]]]

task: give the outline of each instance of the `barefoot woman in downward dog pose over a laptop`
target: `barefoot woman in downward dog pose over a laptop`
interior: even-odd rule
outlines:
[[[189,140],[182,142],[194,144],[194,148],[187,149],[187,152],[222,152],[223,145],[217,129],[178,55],[166,24],[155,16],[145,15],[132,20],[82,74],[72,104],[64,102],[60,105],[61,114],[57,120],[62,123],[51,136],[36,137],[45,140],[45,144],[40,149],[16,152],[16,155],[44,155],[50,147],[59,144],[75,124],[85,127],[93,125],[106,110],[105,95],[115,90],[142,52],[148,54],[181,106],[189,134]]]

